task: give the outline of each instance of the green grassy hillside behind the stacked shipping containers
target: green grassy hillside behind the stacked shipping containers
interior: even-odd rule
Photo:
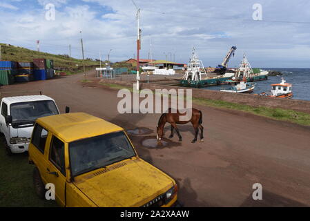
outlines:
[[[38,52],[9,44],[0,44],[3,61],[33,61],[34,58],[45,58],[54,60],[54,67],[61,70],[78,71],[83,69],[83,60],[70,58],[66,55],[52,55],[46,52]],[[99,66],[99,61],[86,59],[85,66],[87,69]],[[102,64],[106,62],[103,61]]]

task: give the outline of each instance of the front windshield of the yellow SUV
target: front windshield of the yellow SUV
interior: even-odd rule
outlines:
[[[69,155],[72,177],[75,177],[134,157],[135,151],[120,131],[71,142]]]

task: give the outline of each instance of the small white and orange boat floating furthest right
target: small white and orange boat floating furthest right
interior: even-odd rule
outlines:
[[[292,85],[282,78],[280,84],[271,84],[271,93],[260,93],[259,95],[265,97],[279,97],[290,99],[293,97]]]

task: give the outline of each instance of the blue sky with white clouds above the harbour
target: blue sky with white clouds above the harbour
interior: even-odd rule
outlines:
[[[204,66],[229,67],[246,53],[252,67],[310,68],[308,0],[135,0],[141,8],[140,58],[188,63],[193,47]],[[253,19],[260,4],[261,21]],[[52,7],[55,7],[55,18]],[[0,42],[57,55],[124,61],[137,55],[132,0],[1,0]],[[257,18],[257,17],[256,17]],[[112,49],[112,50],[111,50]]]

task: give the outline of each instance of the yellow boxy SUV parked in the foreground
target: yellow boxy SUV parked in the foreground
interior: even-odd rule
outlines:
[[[142,160],[123,128],[86,113],[37,119],[29,145],[40,198],[60,206],[173,206],[177,184]]]

